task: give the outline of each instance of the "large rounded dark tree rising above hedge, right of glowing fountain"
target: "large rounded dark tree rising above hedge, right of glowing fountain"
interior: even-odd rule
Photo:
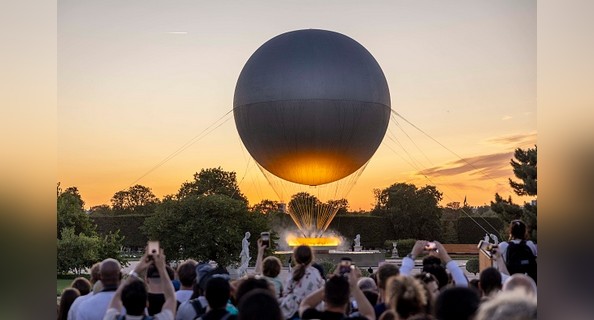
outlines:
[[[386,216],[392,223],[395,239],[441,240],[442,193],[434,186],[417,188],[414,184],[395,183],[374,190],[375,215]]]

